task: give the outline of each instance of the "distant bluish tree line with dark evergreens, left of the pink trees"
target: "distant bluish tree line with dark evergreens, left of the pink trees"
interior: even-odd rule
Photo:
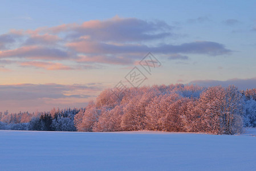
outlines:
[[[52,109],[50,112],[0,112],[0,129],[30,131],[76,131],[75,115],[82,109]]]

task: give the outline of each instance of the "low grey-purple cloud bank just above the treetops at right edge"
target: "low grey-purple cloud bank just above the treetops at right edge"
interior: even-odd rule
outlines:
[[[246,88],[256,88],[256,78],[250,79],[229,79],[225,81],[220,80],[194,80],[189,84],[197,84],[198,86],[224,86],[227,87],[229,85],[237,86],[239,89],[246,89]]]

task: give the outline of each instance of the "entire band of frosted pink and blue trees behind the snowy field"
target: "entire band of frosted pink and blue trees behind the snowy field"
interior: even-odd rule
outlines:
[[[161,85],[105,89],[85,108],[0,112],[0,129],[241,133],[256,127],[256,89]]]

